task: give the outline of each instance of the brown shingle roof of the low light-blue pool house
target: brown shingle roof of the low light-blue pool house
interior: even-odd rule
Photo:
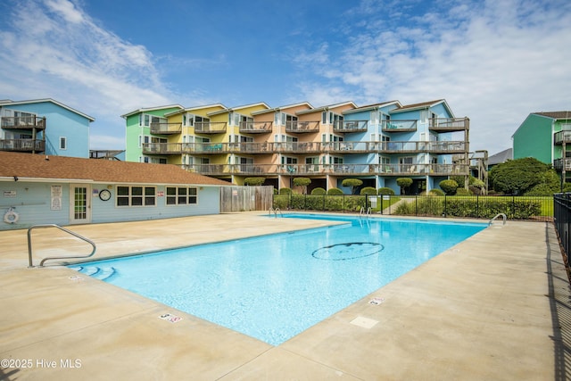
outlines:
[[[46,159],[47,158],[47,159]],[[193,184],[230,186],[231,183],[190,173],[172,164],[115,162],[65,156],[0,151],[0,179],[14,176],[37,181],[84,180],[125,184]]]

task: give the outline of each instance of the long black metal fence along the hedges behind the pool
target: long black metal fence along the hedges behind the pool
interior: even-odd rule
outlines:
[[[437,196],[437,195],[274,195],[273,207],[298,211],[370,211],[423,217],[553,220],[552,196]]]

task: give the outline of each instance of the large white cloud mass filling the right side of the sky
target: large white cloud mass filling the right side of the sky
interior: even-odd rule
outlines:
[[[314,69],[314,75],[352,92],[337,92],[343,96],[334,101],[446,98],[456,116],[470,118],[471,148],[491,154],[511,146],[511,135],[530,112],[571,109],[570,3],[446,4],[435,4],[437,12],[431,7],[430,13],[379,20],[374,9],[380,4],[363,2],[360,17],[370,13],[375,20],[354,31],[341,54],[327,52],[338,63]]]

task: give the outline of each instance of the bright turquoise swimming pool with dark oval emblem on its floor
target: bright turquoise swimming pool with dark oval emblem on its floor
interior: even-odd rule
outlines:
[[[285,217],[345,223],[70,268],[277,345],[487,226]]]

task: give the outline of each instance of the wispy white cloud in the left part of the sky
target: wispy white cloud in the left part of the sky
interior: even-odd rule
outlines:
[[[153,54],[97,26],[67,0],[24,0],[0,29],[1,97],[54,98],[95,117],[92,148],[117,148],[120,115],[139,107],[173,104]],[[95,132],[95,133],[94,133]]]

